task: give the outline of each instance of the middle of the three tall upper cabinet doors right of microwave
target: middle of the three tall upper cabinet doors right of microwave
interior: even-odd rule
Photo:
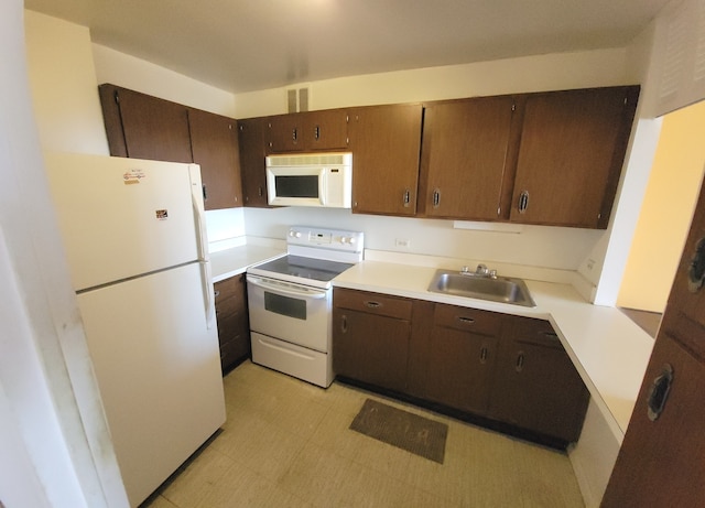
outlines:
[[[425,107],[421,149],[427,217],[497,220],[508,159],[512,97],[481,97]]]

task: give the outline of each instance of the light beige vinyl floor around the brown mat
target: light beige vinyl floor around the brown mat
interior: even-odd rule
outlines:
[[[583,507],[567,455],[334,382],[246,361],[223,432],[151,508]],[[443,464],[349,429],[366,398],[447,423]]]

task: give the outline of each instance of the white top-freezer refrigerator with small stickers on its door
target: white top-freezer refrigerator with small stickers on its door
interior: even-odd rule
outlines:
[[[46,154],[88,349],[131,506],[225,422],[200,169]]]

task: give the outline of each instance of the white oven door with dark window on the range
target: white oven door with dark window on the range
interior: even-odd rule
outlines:
[[[322,353],[330,347],[332,289],[247,274],[250,329]]]

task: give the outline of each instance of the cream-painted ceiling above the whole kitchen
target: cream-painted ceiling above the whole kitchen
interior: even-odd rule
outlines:
[[[95,43],[235,94],[626,46],[669,0],[25,0]]]

